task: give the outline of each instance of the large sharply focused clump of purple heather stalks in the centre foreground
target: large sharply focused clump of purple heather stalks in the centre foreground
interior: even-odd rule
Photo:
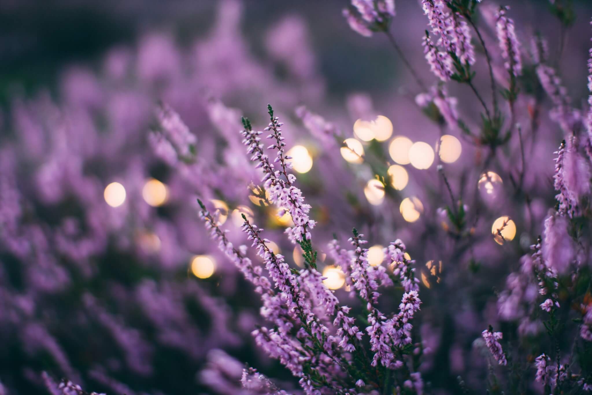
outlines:
[[[352,291],[359,294],[368,311],[369,325],[365,331],[359,329],[355,319],[349,315],[351,308],[340,305],[333,291],[323,284],[324,277],[316,269],[316,253],[311,252],[310,247],[310,229],[315,224],[308,217],[310,205],[304,203],[301,191],[295,187],[295,176],[288,173],[291,167],[288,160],[291,158],[284,155],[282,123],[274,117],[271,106],[268,110],[271,123],[266,129],[272,131],[268,138],[274,142],[268,149],[276,151],[274,163],[263,151],[259,137],[263,132],[254,131],[246,118],[243,118],[244,130],[241,131],[243,143],[251,159],[257,163],[256,167],[263,171],[262,182],[270,191],[269,200],[279,206],[282,214],[288,212],[293,219],[296,218],[295,226],[286,233],[289,240],[300,242],[303,249],[308,248],[305,249],[307,267],[300,270],[291,268],[283,255],[271,251],[271,240],[263,236],[263,229],[243,214],[242,230],[247,240],[251,240],[257,255],[263,259],[267,273],[264,275],[262,268],[254,266],[246,257],[246,247],[234,248],[201,201],[200,217],[210,230],[211,237],[217,240],[218,248],[255,285],[262,297],[261,315],[275,325],[274,328],[261,326],[254,330],[252,334],[256,343],[299,378],[306,393],[329,393],[328,388],[332,388],[337,393],[353,394],[368,385],[379,386],[381,380],[385,380],[383,376],[390,377],[392,373],[373,372],[372,367],[381,365],[388,370],[406,367],[406,346],[411,343],[413,328],[411,320],[421,303],[414,269],[411,268],[413,261],[404,257],[403,242],[397,240],[392,243],[389,256],[392,264],[397,266],[395,275],[400,276],[406,292],[401,298],[398,313],[387,317],[377,307],[378,287],[392,285],[392,280],[384,266],[369,265],[368,250],[363,248],[366,244],[363,235],[354,230],[354,236],[349,239],[353,251],[341,249],[337,240],[330,243],[330,255],[343,269],[348,277],[346,281]],[[323,314],[319,315],[321,312]],[[372,357],[366,357],[364,332],[369,336]],[[355,358],[352,359],[352,355]],[[401,380],[400,387],[422,393],[423,381],[419,372],[406,368],[397,377]]]

